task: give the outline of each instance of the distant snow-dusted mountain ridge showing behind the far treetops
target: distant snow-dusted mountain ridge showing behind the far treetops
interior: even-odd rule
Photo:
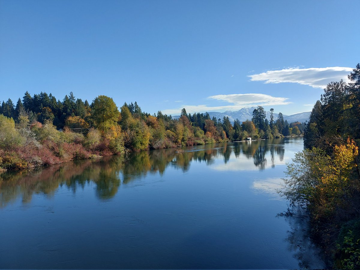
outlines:
[[[236,119],[239,119],[240,122],[246,121],[246,120],[251,120],[252,118],[252,112],[254,111],[254,109],[256,109],[256,107],[251,107],[251,108],[242,108],[239,111],[226,111],[226,112],[208,112],[210,115],[210,118],[212,118],[213,116],[215,116],[216,119],[221,119],[225,117],[229,117],[230,122],[234,122]],[[310,113],[311,112],[303,112],[303,113],[296,113],[296,114],[292,114],[292,115],[283,115],[284,116],[284,120],[287,120],[289,123],[291,122],[305,122],[309,120],[310,117]],[[278,113],[274,113],[274,121],[276,121],[276,119],[278,119]],[[174,118],[179,118],[180,116],[174,116]],[[266,112],[266,118],[267,120],[270,120],[270,111]]]

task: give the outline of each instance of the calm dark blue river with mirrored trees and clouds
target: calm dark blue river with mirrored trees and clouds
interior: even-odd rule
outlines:
[[[0,268],[321,268],[276,188],[302,138],[0,175]]]

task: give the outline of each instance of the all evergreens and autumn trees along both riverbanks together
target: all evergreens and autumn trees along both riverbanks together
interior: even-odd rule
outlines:
[[[208,113],[171,115],[143,112],[135,103],[120,108],[99,95],[91,104],[71,92],[62,101],[52,94],[26,92],[0,107],[0,170],[19,170],[149,149],[272,139],[303,134],[305,150],[285,172],[280,195],[292,207],[305,207],[311,235],[328,264],[360,267],[360,64],[350,82],[331,82],[306,123],[270,120],[262,106],[244,122]]]

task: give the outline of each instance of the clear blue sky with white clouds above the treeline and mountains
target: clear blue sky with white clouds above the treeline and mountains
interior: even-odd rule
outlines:
[[[360,62],[360,1],[0,1],[0,100],[311,111]]]

